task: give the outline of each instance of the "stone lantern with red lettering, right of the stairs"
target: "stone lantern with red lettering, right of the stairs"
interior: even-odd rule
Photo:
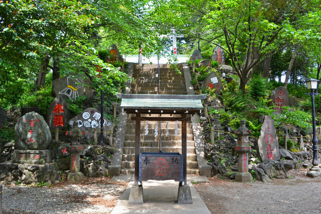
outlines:
[[[235,180],[251,182],[252,175],[248,172],[248,152],[251,150],[251,146],[248,145],[248,136],[251,135],[251,131],[245,127],[245,120],[241,120],[241,125],[235,134],[238,137],[238,145],[235,150],[239,154],[239,172],[236,173]]]

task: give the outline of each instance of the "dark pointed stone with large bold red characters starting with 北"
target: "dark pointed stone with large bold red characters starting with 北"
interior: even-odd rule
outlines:
[[[52,101],[47,112],[47,121],[51,131],[68,124],[68,120],[71,117],[68,107],[69,103],[60,96],[56,97],[54,101]]]

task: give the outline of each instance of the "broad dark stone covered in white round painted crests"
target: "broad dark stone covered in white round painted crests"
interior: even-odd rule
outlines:
[[[100,133],[100,112],[96,108],[86,108],[79,115],[69,120],[68,124],[72,127],[78,127],[86,137],[94,137],[95,131]],[[113,131],[114,124],[110,122],[106,117],[103,117],[103,134],[109,136]],[[74,122],[77,121],[77,125]]]

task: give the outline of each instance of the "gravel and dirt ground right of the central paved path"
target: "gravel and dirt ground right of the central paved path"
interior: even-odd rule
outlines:
[[[239,183],[211,178],[195,189],[211,213],[321,213],[321,178],[290,170],[289,179]]]

